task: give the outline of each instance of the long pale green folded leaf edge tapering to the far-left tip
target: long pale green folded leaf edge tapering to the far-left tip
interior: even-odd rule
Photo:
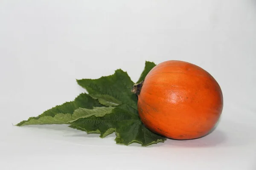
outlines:
[[[45,125],[45,124],[70,124],[80,118],[86,118],[90,116],[104,116],[111,113],[113,107],[95,107],[93,109],[79,108],[74,111],[73,114],[58,113],[54,117],[42,116],[39,119],[31,119],[28,122],[24,122],[20,126],[24,125]]]

